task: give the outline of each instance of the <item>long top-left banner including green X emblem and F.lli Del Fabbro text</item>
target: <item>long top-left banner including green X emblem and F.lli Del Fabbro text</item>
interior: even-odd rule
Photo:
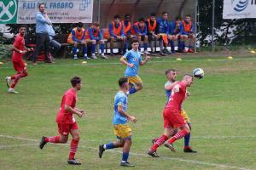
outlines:
[[[0,24],[34,24],[39,3],[52,23],[91,23],[93,0],[0,0]]]

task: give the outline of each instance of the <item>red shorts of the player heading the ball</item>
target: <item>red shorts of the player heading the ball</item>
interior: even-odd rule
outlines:
[[[186,122],[181,115],[181,111],[165,108],[163,112],[164,127],[179,128],[185,126]]]

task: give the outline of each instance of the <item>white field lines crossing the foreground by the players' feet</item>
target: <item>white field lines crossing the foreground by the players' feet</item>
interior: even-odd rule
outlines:
[[[0,135],[0,137],[2,138],[8,138],[8,139],[20,139],[20,140],[26,140],[26,141],[39,141],[37,139],[26,139],[26,138],[20,138],[20,137],[15,137],[15,136],[9,136],[9,135]],[[20,146],[28,146],[28,145],[37,145],[37,144],[15,144],[15,145],[5,145],[5,148],[12,148],[12,147],[20,147]],[[66,145],[69,146],[69,144],[62,144],[62,145]],[[92,150],[98,150],[97,148],[91,148],[91,147],[85,147],[83,145],[79,146],[80,148],[84,148],[84,149],[92,149]],[[3,145],[1,148],[0,145],[0,149],[3,149]],[[108,152],[112,152],[112,153],[122,153],[122,151],[119,150],[108,150]],[[145,156],[145,157],[149,157],[146,154],[142,154],[142,153],[133,153],[130,152],[130,155],[132,156]],[[224,164],[218,164],[218,163],[211,163],[211,162],[207,162],[207,161],[195,161],[195,160],[187,160],[187,159],[183,159],[183,158],[178,158],[178,157],[166,157],[166,156],[161,156],[160,158],[154,158],[154,159],[160,159],[160,160],[172,160],[172,161],[183,161],[183,162],[187,162],[187,163],[192,163],[192,164],[198,164],[198,165],[204,165],[204,166],[208,166],[208,167],[221,167],[221,168],[230,168],[230,169],[240,169],[240,170],[249,170],[246,167],[236,167],[236,166],[229,166],[229,165],[224,165]]]

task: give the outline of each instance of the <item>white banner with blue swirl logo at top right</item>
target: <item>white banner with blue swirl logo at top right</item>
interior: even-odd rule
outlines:
[[[223,18],[256,18],[256,0],[224,0]]]

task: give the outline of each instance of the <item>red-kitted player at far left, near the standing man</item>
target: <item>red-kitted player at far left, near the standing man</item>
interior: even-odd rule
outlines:
[[[20,26],[19,34],[15,38],[15,42],[11,48],[14,51],[12,55],[12,62],[17,73],[11,77],[5,77],[7,87],[9,88],[9,94],[17,94],[18,92],[15,91],[15,86],[19,82],[20,78],[27,76],[26,64],[22,60],[22,57],[23,54],[26,54],[27,51],[32,51],[33,48],[25,47],[25,33],[26,27]]]

